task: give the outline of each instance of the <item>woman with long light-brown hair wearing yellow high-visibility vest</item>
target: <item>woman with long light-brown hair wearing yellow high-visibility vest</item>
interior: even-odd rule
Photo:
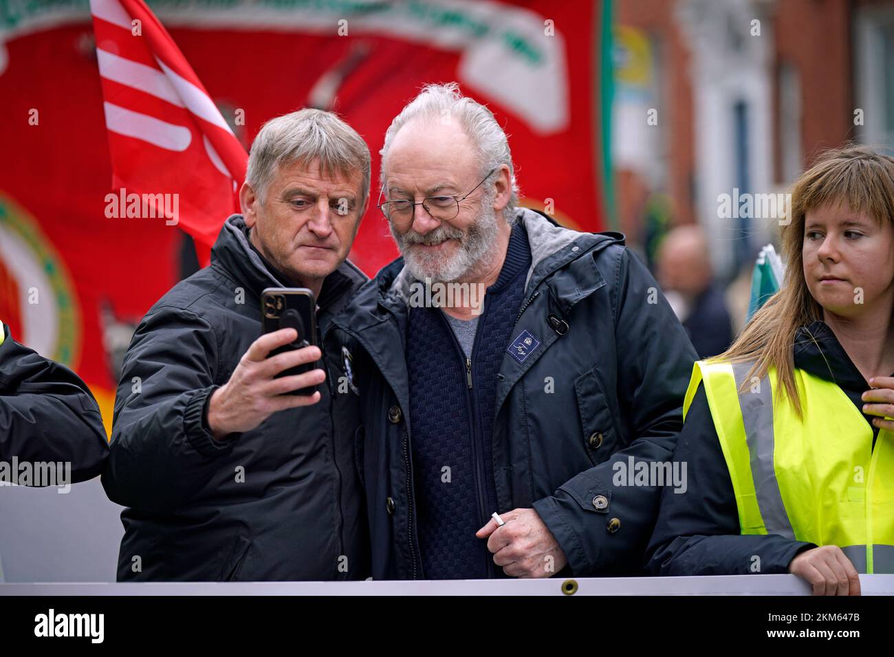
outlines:
[[[660,575],[894,573],[894,159],[825,153],[791,191],[785,280],[696,362],[647,551]]]

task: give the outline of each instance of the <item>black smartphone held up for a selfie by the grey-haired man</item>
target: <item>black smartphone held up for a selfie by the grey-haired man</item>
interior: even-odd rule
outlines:
[[[271,351],[270,356],[316,345],[316,299],[312,291],[307,288],[266,288],[261,292],[262,333],[273,333],[283,328],[295,329],[298,337]],[[291,367],[276,375],[276,378],[299,375],[312,369],[316,369],[316,363]],[[286,394],[312,395],[314,392],[316,385]]]

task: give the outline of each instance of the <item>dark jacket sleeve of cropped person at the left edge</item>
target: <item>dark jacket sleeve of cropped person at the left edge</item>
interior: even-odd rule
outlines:
[[[70,483],[99,475],[108,441],[87,384],[0,328],[0,460],[68,462]]]

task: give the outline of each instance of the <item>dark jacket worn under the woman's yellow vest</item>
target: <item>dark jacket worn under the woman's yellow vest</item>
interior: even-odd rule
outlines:
[[[795,366],[837,383],[863,412],[860,396],[869,383],[835,334],[823,322],[802,326],[793,346]],[[872,425],[871,417],[867,422]],[[873,426],[873,433],[878,428]],[[753,558],[760,572],[789,572],[798,552],[816,547],[780,535],[740,535],[730,471],[721,451],[711,409],[700,384],[679,436],[674,461],[687,463],[687,491],[662,493],[661,512],[646,553],[653,575],[748,575]]]

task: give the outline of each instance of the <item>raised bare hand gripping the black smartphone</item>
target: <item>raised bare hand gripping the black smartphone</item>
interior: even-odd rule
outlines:
[[[208,427],[216,440],[223,440],[228,434],[250,431],[277,411],[309,406],[320,400],[319,392],[312,395],[286,393],[323,383],[326,375],[322,369],[275,378],[291,367],[315,363],[321,358],[316,346],[270,356],[271,351],[297,339],[295,329],[285,328],[265,333],[251,343],[230,380],[215,390],[208,402]]]

